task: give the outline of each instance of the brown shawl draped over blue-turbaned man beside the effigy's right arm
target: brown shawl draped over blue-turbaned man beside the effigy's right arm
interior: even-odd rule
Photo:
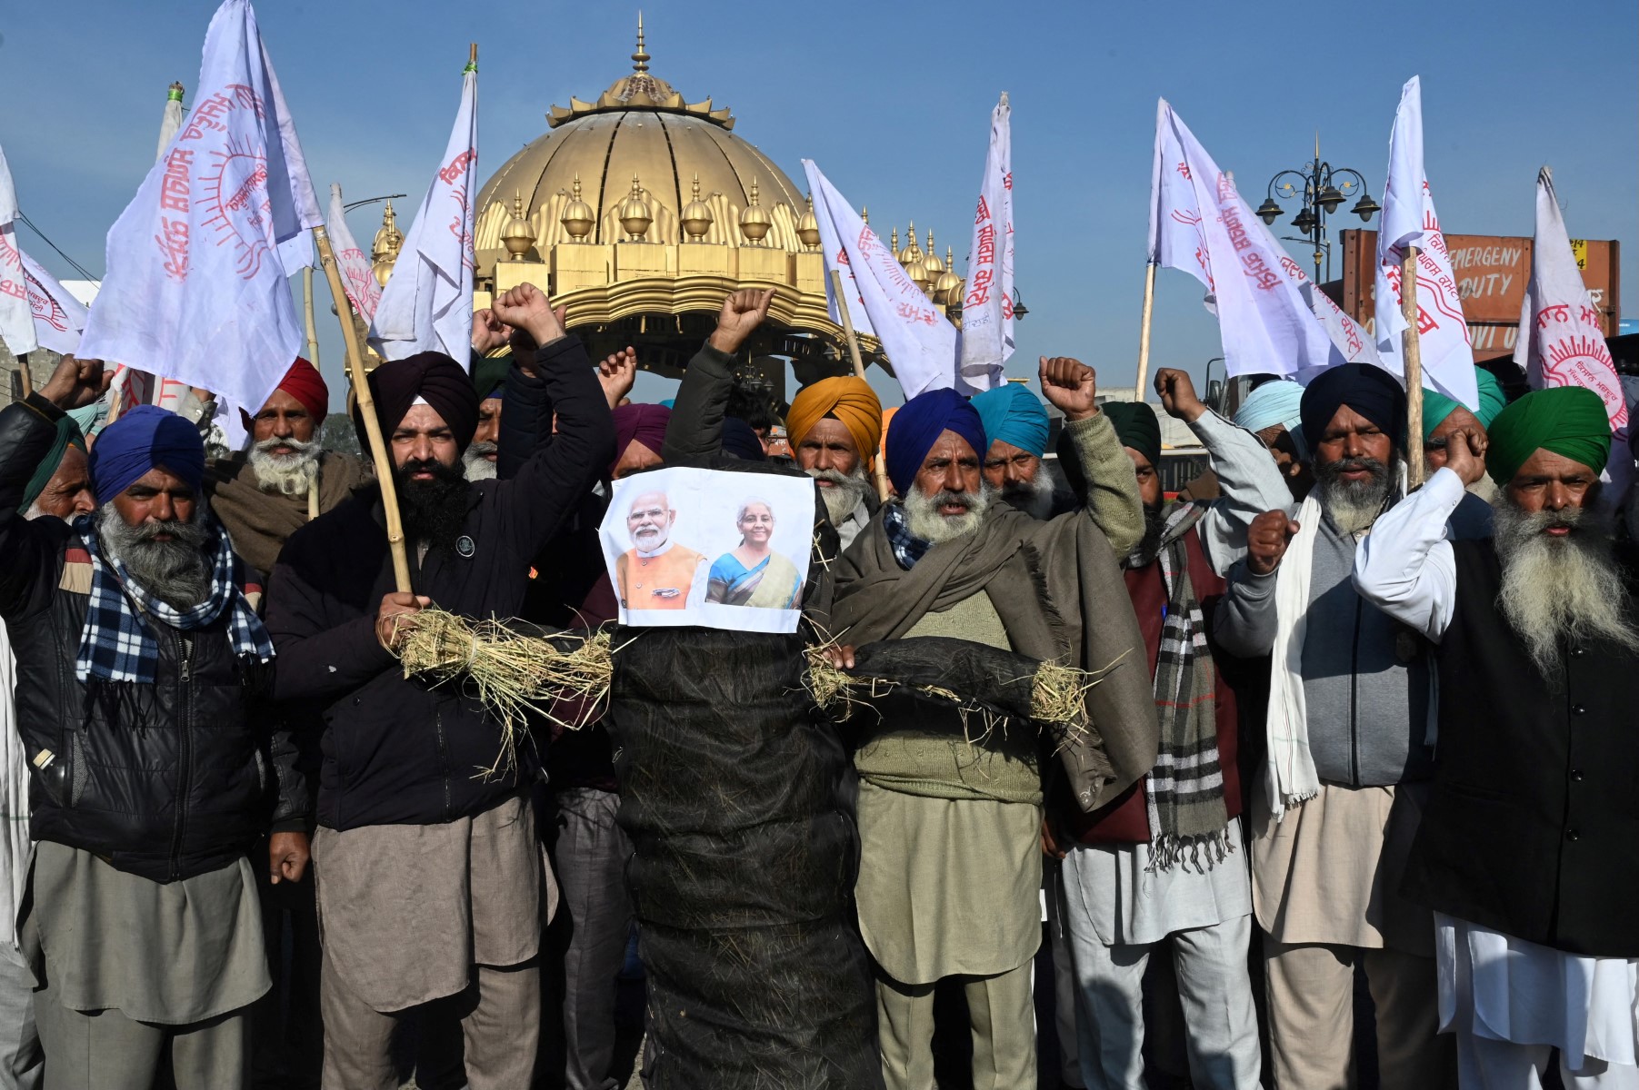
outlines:
[[[910,571],[879,514],[838,563],[826,624],[854,646],[897,640],[978,591],[1015,651],[1101,673],[1087,694],[1090,730],[1059,750],[1077,804],[1096,810],[1154,766],[1159,730],[1133,602],[1088,512],[1039,522],[998,501],[977,534],[934,545]]]

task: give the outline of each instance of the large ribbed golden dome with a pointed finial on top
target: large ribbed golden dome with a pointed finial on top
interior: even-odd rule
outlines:
[[[618,242],[626,237],[620,206],[626,200],[624,180],[641,175],[644,203],[652,219],[644,239],[675,245],[690,241],[682,211],[690,203],[690,178],[700,177],[711,209],[711,224],[701,242],[746,245],[739,231],[741,213],[751,205],[751,185],[759,188],[760,214],[769,231],[760,244],[790,254],[803,250],[797,234],[803,191],[756,146],[733,133],[728,110],[711,100],[688,103],[665,80],[649,72],[649,54],[639,39],[633,72],[616,80],[595,101],[570,98],[569,108],[552,106],[549,129],[506,160],[484,183],[475,224],[479,277],[493,275],[495,260],[505,260],[502,231],[508,214],[508,191],[528,193],[533,209],[534,247],[549,254],[559,242],[583,237],[587,242]],[[583,182],[585,218],[580,236],[565,224],[570,182]]]

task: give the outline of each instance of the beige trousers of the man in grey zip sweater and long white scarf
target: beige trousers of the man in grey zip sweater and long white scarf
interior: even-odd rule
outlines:
[[[1269,1043],[1277,1090],[1354,1090],[1354,966],[1377,1007],[1380,1085],[1457,1085],[1452,1038],[1439,1034],[1434,959],[1398,949],[1288,946],[1264,936]]]

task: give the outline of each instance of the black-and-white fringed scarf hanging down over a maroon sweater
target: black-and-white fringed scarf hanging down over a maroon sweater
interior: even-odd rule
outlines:
[[[1160,745],[1155,768],[1144,777],[1149,800],[1152,866],[1195,864],[1206,871],[1233,849],[1218,764],[1218,671],[1206,646],[1206,622],[1190,583],[1183,537],[1195,529],[1205,504],[1177,502],[1165,512],[1159,542],[1144,543],[1123,563],[1128,570],[1160,565],[1167,612],[1155,656],[1155,715]],[[1206,848],[1205,859],[1201,848]],[[1188,856],[1188,859],[1185,859]]]

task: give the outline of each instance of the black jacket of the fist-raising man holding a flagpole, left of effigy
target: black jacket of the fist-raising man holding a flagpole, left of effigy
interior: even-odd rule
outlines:
[[[502,422],[534,419],[551,430],[556,408],[556,440],[513,480],[469,486],[470,555],[429,552],[418,563],[411,542],[415,592],[451,612],[516,617],[531,561],[613,457],[615,426],[580,340],[547,345],[536,368],[541,378],[510,372]],[[518,790],[518,771],[480,776],[500,754],[500,728],[477,699],[456,684],[406,679],[377,643],[375,614],[392,589],[374,489],[293,534],[274,566],[267,627],[279,648],[277,696],[306,702],[323,723],[326,828],[434,825]]]

